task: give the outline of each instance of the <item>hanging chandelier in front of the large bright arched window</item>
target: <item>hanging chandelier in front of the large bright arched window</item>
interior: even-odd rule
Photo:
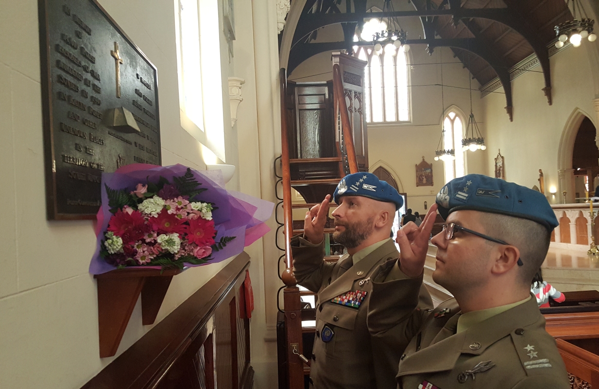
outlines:
[[[380,55],[383,50],[385,54],[392,56],[397,54],[398,49],[406,53],[410,51],[410,45],[406,44],[407,32],[401,28],[397,17],[391,16],[392,12],[394,8],[391,0],[385,0],[383,14],[387,16],[370,19],[362,28],[360,37],[365,41],[372,39],[376,55]]]

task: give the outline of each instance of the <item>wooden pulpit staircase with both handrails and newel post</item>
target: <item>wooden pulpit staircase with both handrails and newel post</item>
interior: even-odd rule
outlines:
[[[322,200],[326,194],[332,194],[338,182],[348,173],[357,173],[358,161],[353,144],[352,126],[347,110],[344,86],[341,80],[341,70],[338,64],[333,65],[333,89],[334,89],[334,122],[336,131],[336,154],[327,158],[294,158],[291,159],[289,152],[289,132],[287,124],[288,99],[287,74],[285,69],[280,70],[280,97],[281,97],[281,182],[283,187],[283,214],[284,220],[281,227],[284,229],[285,236],[285,254],[280,259],[285,259],[285,270],[283,270],[281,279],[285,283],[283,287],[284,309],[280,310],[284,315],[284,355],[279,355],[279,387],[289,389],[304,388],[304,379],[310,373],[309,360],[302,355],[304,347],[302,334],[314,333],[315,327],[302,327],[302,321],[316,320],[315,309],[302,309],[301,297],[304,295],[315,295],[313,292],[304,288],[300,290],[293,274],[293,257],[291,252],[291,239],[294,235],[302,234],[304,230],[294,228],[293,209],[310,207],[317,204],[316,201]],[[328,171],[337,171],[335,177],[310,177],[304,179],[292,180],[292,167],[300,164],[312,164],[328,167]],[[304,198],[313,198],[314,202],[308,201],[307,204],[292,204],[291,188],[295,188]],[[308,196],[311,194],[311,196]],[[280,204],[277,204],[277,207]],[[331,207],[337,204],[331,203]],[[328,226],[332,227],[332,226]],[[334,228],[326,228],[325,233],[332,233]],[[278,234],[277,234],[278,236]],[[335,262],[339,256],[325,257],[326,261]],[[278,295],[277,295],[278,298]],[[282,331],[283,332],[283,331]],[[281,352],[281,347],[279,348]],[[308,355],[308,358],[310,355]],[[302,359],[304,358],[304,359]]]

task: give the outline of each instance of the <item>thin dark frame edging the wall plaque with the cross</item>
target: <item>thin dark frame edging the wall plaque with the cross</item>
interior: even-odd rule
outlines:
[[[53,101],[54,96],[52,94],[52,62],[50,59],[50,52],[52,51],[50,46],[50,25],[48,19],[50,0],[38,0],[38,20],[39,20],[39,33],[40,33],[40,76],[41,76],[41,97],[42,97],[42,114],[43,114],[43,132],[44,132],[44,176],[46,183],[46,216],[48,220],[93,220],[96,219],[96,213],[60,213],[58,211],[57,203],[57,185],[56,185],[56,154],[54,147],[54,122],[53,122]],[[160,129],[160,109],[159,109],[159,98],[158,98],[158,68],[153,64],[152,61],[141,51],[141,49],[135,44],[129,35],[123,31],[122,28],[116,23],[116,21],[108,14],[108,12],[98,3],[97,0],[83,0],[89,1],[94,7],[102,13],[108,22],[119,32],[120,35],[127,41],[128,44],[135,50],[135,52],[143,58],[150,68],[153,70],[154,88],[156,94],[156,124]],[[44,61],[45,59],[45,61]],[[158,138],[160,141],[160,132]],[[162,165],[162,146],[157,147],[158,150],[158,161]]]

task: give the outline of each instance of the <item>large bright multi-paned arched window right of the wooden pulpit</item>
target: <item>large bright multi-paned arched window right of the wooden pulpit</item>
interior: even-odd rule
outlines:
[[[355,41],[358,37],[354,38]],[[406,53],[376,55],[372,47],[354,46],[354,56],[367,61],[364,68],[364,108],[368,123],[410,121],[410,92]]]

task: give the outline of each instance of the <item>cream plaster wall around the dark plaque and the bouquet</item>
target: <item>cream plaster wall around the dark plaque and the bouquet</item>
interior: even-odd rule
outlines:
[[[158,68],[163,164],[181,163],[204,169],[201,144],[180,125],[176,2],[100,0],[100,3]],[[222,10],[219,14],[222,17]],[[246,29],[243,23],[243,13],[239,19],[240,37],[252,34],[251,26]],[[96,282],[87,273],[95,248],[93,223],[46,220],[37,21],[37,1],[0,2],[3,139],[0,197],[4,201],[0,223],[0,388],[3,389],[79,388],[114,359],[99,358]],[[221,45],[221,56],[225,59],[223,111],[225,123],[229,123],[226,78],[233,73],[223,50],[226,46]],[[250,81],[252,74],[246,79]],[[249,91],[251,94],[252,89]],[[225,130],[228,162],[230,156],[234,164],[239,159],[236,131]],[[246,154],[257,155],[258,150],[248,146]],[[228,187],[240,188],[238,173]],[[259,196],[259,192],[251,194]],[[261,261],[261,251],[256,249],[261,245],[259,241],[248,249],[253,267]],[[156,322],[227,263],[190,269],[176,276]],[[255,289],[260,290],[261,272],[253,275],[258,278]],[[257,306],[260,309],[260,303]],[[256,318],[253,324],[261,320],[264,318]],[[138,301],[117,355],[152,327],[141,324]]]

